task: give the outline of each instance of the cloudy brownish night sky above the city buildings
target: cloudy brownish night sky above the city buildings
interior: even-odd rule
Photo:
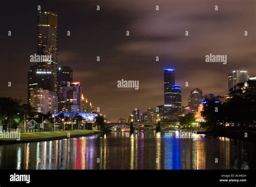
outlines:
[[[135,108],[144,112],[164,104],[166,67],[176,69],[183,105],[195,87],[203,95],[226,95],[232,70],[243,68],[256,76],[254,0],[3,1],[0,97],[26,102],[29,56],[37,52],[37,5],[58,13],[59,66],[73,69],[73,80],[111,121],[127,118]],[[227,64],[206,63],[210,53],[227,55]],[[139,90],[117,88],[122,78],[138,80]]]

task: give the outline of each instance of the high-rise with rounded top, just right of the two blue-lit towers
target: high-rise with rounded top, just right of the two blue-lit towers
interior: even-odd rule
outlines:
[[[188,99],[188,106],[190,107],[191,112],[197,112],[198,106],[203,100],[203,91],[195,88],[190,92],[190,98]]]

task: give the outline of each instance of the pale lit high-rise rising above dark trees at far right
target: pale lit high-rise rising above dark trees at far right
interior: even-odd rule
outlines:
[[[248,81],[250,74],[247,70],[239,69],[232,71],[232,74],[228,75],[228,93],[231,93],[233,88],[238,84]]]

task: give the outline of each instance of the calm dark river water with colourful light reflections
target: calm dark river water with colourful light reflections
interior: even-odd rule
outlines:
[[[253,142],[153,131],[126,135],[3,145],[0,169],[256,169]]]

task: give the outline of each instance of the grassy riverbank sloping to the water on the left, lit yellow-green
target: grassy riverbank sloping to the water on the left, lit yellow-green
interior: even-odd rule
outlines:
[[[39,141],[50,141],[67,138],[76,138],[79,136],[97,134],[95,130],[77,130],[77,131],[57,131],[57,132],[38,132],[38,133],[21,133],[20,140],[17,139],[0,139],[0,145],[9,143],[28,143]]]

